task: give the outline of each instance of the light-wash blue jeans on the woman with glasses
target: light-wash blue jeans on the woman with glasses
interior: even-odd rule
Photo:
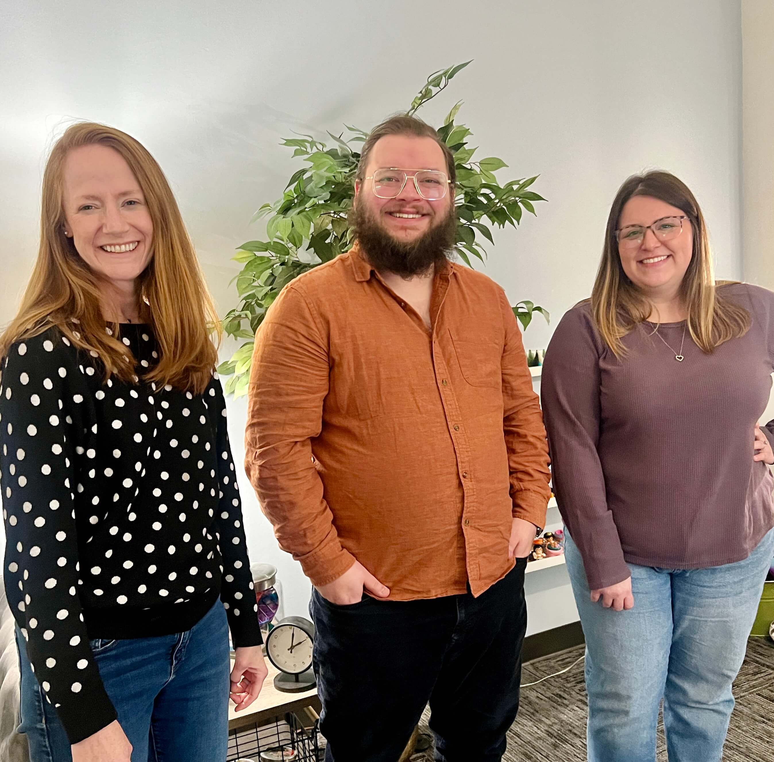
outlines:
[[[654,762],[659,702],[670,762],[717,762],[731,683],[774,554],[774,530],[744,561],[704,569],[629,564],[634,608],[592,603],[567,534],[567,571],[586,637],[590,762]]]

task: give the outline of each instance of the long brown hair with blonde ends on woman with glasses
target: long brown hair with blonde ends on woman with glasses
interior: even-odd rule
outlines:
[[[615,231],[626,202],[634,196],[649,196],[683,211],[694,233],[694,250],[680,284],[687,309],[687,327],[697,346],[711,354],[715,347],[744,335],[750,315],[717,293],[707,225],[699,204],[682,180],[669,172],[632,175],[618,190],[604,232],[602,259],[591,292],[591,311],[598,331],[616,357],[625,355],[621,342],[636,324],[649,318],[652,305],[628,279],[618,256]]]

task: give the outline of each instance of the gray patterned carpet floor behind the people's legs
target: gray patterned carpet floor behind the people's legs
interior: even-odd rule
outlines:
[[[584,653],[582,646],[524,665],[522,683],[533,682],[569,667]],[[749,641],[747,657],[734,684],[736,708],[731,716],[724,762],[774,762],[774,643]],[[586,759],[586,691],[583,662],[570,671],[531,688],[522,688],[519,716],[508,733],[504,762]],[[420,729],[426,727],[429,710]],[[413,762],[433,759],[432,750]],[[663,726],[659,721],[657,762],[666,762]]]

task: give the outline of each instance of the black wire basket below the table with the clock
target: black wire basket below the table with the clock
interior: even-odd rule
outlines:
[[[286,714],[268,725],[248,725],[228,733],[226,762],[255,760],[259,762],[262,751],[295,750],[294,762],[319,762],[317,720],[304,727],[294,714]]]

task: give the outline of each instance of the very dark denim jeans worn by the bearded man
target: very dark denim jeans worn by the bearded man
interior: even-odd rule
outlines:
[[[499,762],[519,709],[525,567],[478,598],[336,606],[314,590],[327,762],[396,762],[428,701],[436,760]]]

